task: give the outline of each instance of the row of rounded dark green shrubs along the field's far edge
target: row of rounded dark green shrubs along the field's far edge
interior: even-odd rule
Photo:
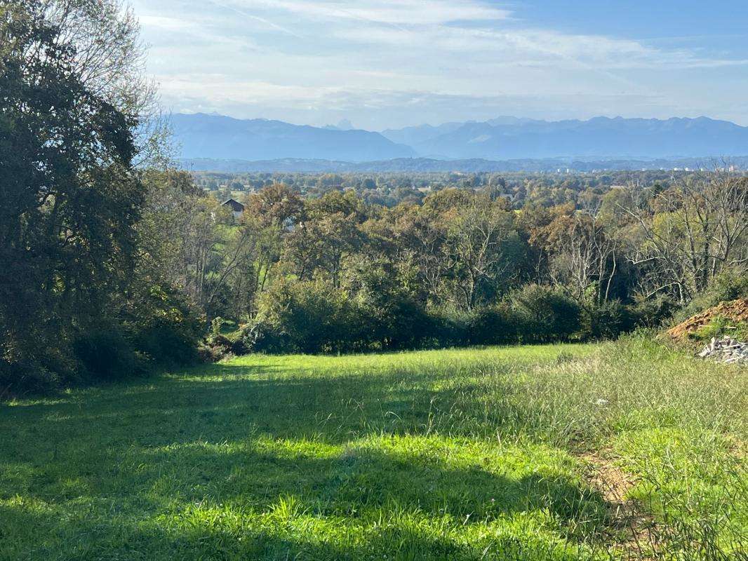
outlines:
[[[575,337],[616,337],[633,325],[617,301],[587,313],[557,289],[531,285],[493,307],[427,310],[398,292],[348,298],[343,289],[285,279],[260,301],[257,319],[230,347],[249,352],[331,353],[463,345],[548,343]]]

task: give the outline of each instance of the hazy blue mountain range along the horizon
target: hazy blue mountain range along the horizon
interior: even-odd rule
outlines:
[[[707,117],[545,121],[498,117],[370,132],[215,114],[175,114],[183,159],[677,159],[748,155],[748,127]]]

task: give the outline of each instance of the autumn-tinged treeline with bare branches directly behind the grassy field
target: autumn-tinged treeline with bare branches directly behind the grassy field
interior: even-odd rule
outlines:
[[[213,337],[223,351],[616,337],[746,284],[748,180],[718,171],[519,211],[498,191],[456,188],[389,209],[276,184],[246,203],[204,300],[245,324]]]

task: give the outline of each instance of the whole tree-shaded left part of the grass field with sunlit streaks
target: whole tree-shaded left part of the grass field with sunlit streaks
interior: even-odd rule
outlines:
[[[561,560],[578,558],[563,539],[606,523],[602,498],[562,473],[390,446],[430,438],[457,391],[433,375],[268,368],[0,411],[0,558]],[[559,541],[485,530],[526,516]]]

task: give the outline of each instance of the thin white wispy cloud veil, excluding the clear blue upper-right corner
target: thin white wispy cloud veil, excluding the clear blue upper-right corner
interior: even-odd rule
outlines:
[[[470,108],[473,117],[509,112],[507,104],[530,114],[541,96],[549,112],[563,99],[568,116],[652,115],[714,107],[708,82],[694,86],[693,73],[729,68],[748,87],[746,57],[560,31],[482,0],[133,1],[153,44],[150,67],[180,109],[267,116],[285,108],[315,122],[349,111],[402,124],[431,118],[428,103],[445,113],[450,103],[456,114]],[[740,107],[738,97],[726,91],[722,105]],[[517,99],[526,111],[509,102]]]

